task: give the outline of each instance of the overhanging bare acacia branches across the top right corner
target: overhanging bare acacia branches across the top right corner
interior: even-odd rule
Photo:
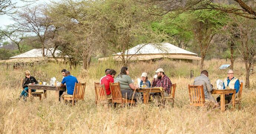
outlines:
[[[135,0],[147,7],[148,13],[163,16],[169,12],[174,16],[181,13],[191,13],[196,10],[217,10],[232,13],[241,17],[256,19],[253,0]]]

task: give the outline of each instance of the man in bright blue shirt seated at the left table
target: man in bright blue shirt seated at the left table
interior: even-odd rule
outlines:
[[[64,85],[66,83],[66,85]],[[65,72],[65,77],[62,79],[62,82],[60,84],[61,87],[65,87],[67,91],[63,92],[60,100],[64,100],[64,95],[73,95],[74,89],[75,89],[75,83],[78,83],[78,80],[70,74],[69,71]]]

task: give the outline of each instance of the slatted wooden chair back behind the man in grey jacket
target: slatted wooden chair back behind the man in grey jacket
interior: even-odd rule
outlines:
[[[203,85],[201,86],[188,85],[188,93],[189,93],[190,105],[204,106],[205,99],[204,99]]]

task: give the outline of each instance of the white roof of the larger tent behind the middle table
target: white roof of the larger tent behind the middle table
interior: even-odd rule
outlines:
[[[176,47],[170,43],[139,44],[125,51],[125,55],[134,54],[190,54],[197,56],[193,52]],[[121,52],[113,55],[121,55]]]

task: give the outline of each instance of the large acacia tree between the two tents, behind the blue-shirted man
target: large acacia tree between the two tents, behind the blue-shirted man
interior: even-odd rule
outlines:
[[[68,38],[60,40],[68,42],[59,44],[63,53],[68,54],[70,64],[76,65],[82,60],[85,70],[89,68],[95,50],[99,49],[99,34],[95,31],[100,28],[97,26],[97,15],[92,4],[93,1],[64,0],[50,5],[53,23],[62,31],[59,35],[63,36],[63,32],[66,32],[64,36],[69,35]]]

